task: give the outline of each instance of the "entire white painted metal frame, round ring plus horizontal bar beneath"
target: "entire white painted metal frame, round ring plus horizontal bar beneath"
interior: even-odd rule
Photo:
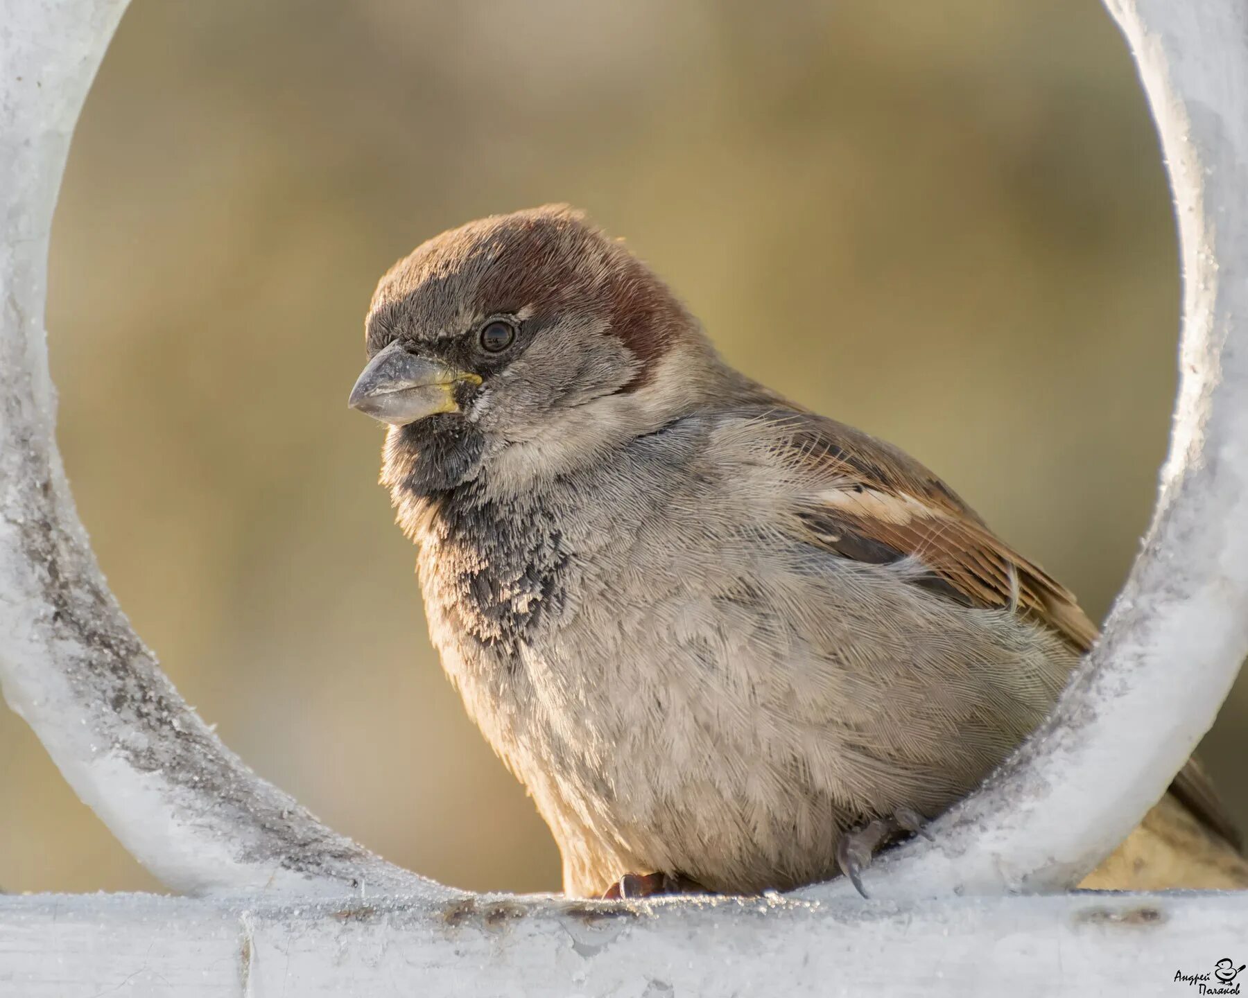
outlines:
[[[0,996],[1182,993],[1177,971],[1248,961],[1242,896],[1011,896],[1068,887],[1126,835],[1248,652],[1248,7],[1107,4],[1164,145],[1186,293],[1171,455],[1104,641],[934,842],[870,871],[889,899],[834,882],[638,914],[459,894],[384,863],[247,770],[130,630],[61,468],[44,332],[70,133],[126,0],[5,0],[0,684],[141,862],[235,899],[0,899]]]

